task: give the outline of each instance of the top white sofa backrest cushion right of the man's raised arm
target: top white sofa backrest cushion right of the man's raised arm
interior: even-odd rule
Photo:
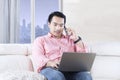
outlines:
[[[91,51],[97,55],[120,56],[120,42],[99,43],[91,46]]]

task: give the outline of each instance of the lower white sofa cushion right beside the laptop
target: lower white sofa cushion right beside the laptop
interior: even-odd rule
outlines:
[[[97,79],[120,80],[120,57],[96,56],[91,74]]]

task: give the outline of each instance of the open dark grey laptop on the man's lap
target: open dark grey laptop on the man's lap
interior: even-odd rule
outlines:
[[[58,70],[62,72],[90,71],[95,53],[64,52]]]

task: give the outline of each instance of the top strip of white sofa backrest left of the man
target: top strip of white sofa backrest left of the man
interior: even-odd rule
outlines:
[[[28,55],[28,49],[24,44],[0,44],[0,55]]]

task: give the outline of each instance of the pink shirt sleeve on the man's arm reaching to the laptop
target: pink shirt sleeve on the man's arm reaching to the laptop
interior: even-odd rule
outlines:
[[[42,38],[37,38],[34,41],[32,48],[32,62],[34,70],[40,72],[48,61],[49,59],[45,56],[44,40]]]

